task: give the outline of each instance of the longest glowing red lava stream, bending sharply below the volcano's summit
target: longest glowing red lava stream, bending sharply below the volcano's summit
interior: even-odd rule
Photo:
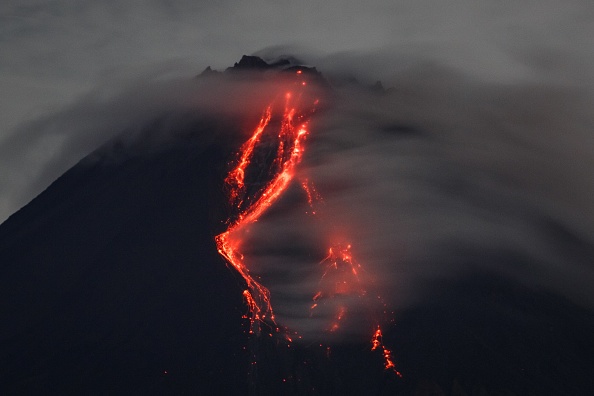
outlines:
[[[301,71],[296,74],[297,77],[302,77]],[[307,84],[300,78],[295,85],[300,92],[286,92],[284,108],[279,109],[280,106],[273,101],[264,110],[250,139],[241,146],[236,165],[225,179],[235,217],[228,220],[229,228],[217,235],[215,240],[219,253],[245,280],[247,288],[243,291],[243,296],[248,306],[245,317],[251,322],[250,333],[259,331],[261,322],[271,322],[275,327],[276,324],[270,292],[250,275],[240,253],[241,232],[256,222],[282,194],[294,176],[295,166],[301,160],[303,141],[308,134],[307,116],[313,112],[317,101],[310,105],[309,111],[303,111],[299,106],[303,97],[302,89]],[[271,156],[273,159],[267,161]],[[263,169],[266,173],[264,178],[268,180],[259,187]],[[254,174],[257,176],[250,178]],[[246,180],[248,178],[250,180]]]

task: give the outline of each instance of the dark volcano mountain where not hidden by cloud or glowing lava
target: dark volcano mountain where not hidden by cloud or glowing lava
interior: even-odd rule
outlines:
[[[201,78],[296,71],[331,89],[289,58],[244,57]],[[359,340],[290,344],[272,325],[253,334],[249,285],[215,240],[240,216],[225,180],[252,121],[158,115],[0,226],[0,393],[594,393],[592,312],[484,272],[444,282],[384,328],[402,378]]]

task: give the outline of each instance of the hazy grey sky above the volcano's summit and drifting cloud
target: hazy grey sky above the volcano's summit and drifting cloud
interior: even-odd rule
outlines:
[[[306,48],[322,69],[348,59],[346,68],[370,78],[428,60],[485,81],[591,86],[593,21],[590,0],[3,1],[0,221],[92,150],[98,134],[115,133],[61,129],[90,124],[81,103],[94,103],[84,111],[97,117],[106,111],[97,103],[123,86],[224,68],[271,46]],[[352,56],[368,53],[375,61]],[[111,128],[126,124],[115,118]],[[76,149],[61,150],[76,134]],[[60,165],[44,172],[48,161]]]

